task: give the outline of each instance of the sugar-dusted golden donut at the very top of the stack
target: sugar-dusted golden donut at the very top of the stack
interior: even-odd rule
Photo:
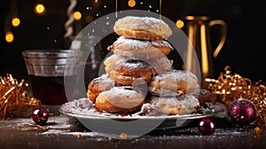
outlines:
[[[144,40],[162,40],[172,35],[163,20],[152,17],[124,17],[115,22],[113,30],[117,35]]]

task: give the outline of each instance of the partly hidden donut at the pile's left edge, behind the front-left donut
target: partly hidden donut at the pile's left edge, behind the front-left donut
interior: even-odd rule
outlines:
[[[115,82],[108,78],[107,74],[101,75],[98,78],[94,78],[88,84],[87,97],[94,103],[99,93],[105,90],[110,90],[113,86],[115,86]]]

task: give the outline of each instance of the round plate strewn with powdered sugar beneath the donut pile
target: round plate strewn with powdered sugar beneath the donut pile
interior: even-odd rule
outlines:
[[[82,100],[81,102],[79,100]],[[207,117],[214,117],[218,114],[224,114],[226,112],[226,107],[217,102],[215,104],[215,110],[213,113],[208,114],[183,114],[183,115],[163,115],[163,116],[118,116],[115,114],[100,114],[95,109],[90,109],[86,107],[86,102],[89,101],[86,98],[81,98],[79,100],[74,100],[66,103],[59,107],[59,112],[61,114],[66,114],[77,118],[82,121],[82,123],[92,123],[92,125],[106,125],[106,122],[113,120],[117,122],[132,122],[141,120],[142,123],[154,123],[160,122],[160,125],[156,129],[173,129],[186,125],[188,122],[196,119],[202,119]],[[76,107],[78,106],[78,107]],[[80,108],[82,106],[82,108]],[[80,108],[80,109],[79,109]]]

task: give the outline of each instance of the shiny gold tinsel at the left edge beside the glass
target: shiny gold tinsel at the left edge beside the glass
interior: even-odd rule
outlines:
[[[25,80],[18,82],[12,75],[0,76],[0,117],[25,117],[29,116],[35,107],[40,106],[36,98],[29,98],[28,84]]]

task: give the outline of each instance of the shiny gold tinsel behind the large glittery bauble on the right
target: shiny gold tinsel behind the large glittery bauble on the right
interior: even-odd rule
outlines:
[[[225,67],[218,79],[207,78],[208,89],[221,98],[223,104],[229,106],[238,98],[246,98],[257,108],[254,126],[266,128],[266,87],[261,82],[252,83],[238,74],[231,73],[231,67]]]

